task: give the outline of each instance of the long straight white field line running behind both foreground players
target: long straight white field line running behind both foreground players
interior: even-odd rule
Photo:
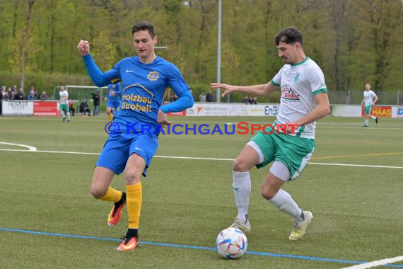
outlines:
[[[38,153],[55,153],[55,154],[78,154],[78,155],[99,155],[99,153],[92,152],[76,152],[76,151],[52,151],[52,150],[36,150],[29,151],[24,149],[0,149],[0,151],[17,151],[17,152],[38,152]],[[187,159],[187,160],[204,160],[204,161],[233,161],[233,159],[221,158],[203,158],[203,157],[182,157],[182,156],[153,156],[154,158],[164,159]],[[352,167],[368,167],[368,168],[395,168],[403,169],[403,166],[371,166],[366,164],[332,164],[332,163],[309,163],[320,166],[352,166]]]

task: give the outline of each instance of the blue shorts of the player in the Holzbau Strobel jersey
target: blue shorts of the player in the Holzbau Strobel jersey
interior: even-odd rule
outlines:
[[[110,135],[103,146],[103,151],[95,166],[102,166],[110,169],[119,175],[124,171],[127,160],[132,154],[137,154],[146,161],[143,176],[146,176],[151,159],[158,149],[158,138],[156,135],[138,134],[124,136],[121,134]]]

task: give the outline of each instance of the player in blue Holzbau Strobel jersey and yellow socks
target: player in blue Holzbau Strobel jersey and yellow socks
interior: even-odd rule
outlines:
[[[94,198],[115,202],[107,219],[108,225],[115,226],[119,222],[122,209],[127,205],[129,227],[117,248],[119,251],[128,251],[139,246],[141,176],[146,176],[151,158],[158,148],[160,126],[171,123],[166,113],[185,110],[194,103],[189,86],[177,67],[154,52],[157,36],[153,25],[146,21],[136,21],[132,36],[138,56],[122,59],[105,73],[95,65],[88,41],[80,40],[77,46],[96,86],[122,81],[122,101],[113,118],[115,131],[119,131],[111,133],[107,138],[95,164],[91,183]],[[172,88],[179,99],[163,105],[167,87]],[[113,176],[123,171],[126,193],[110,186]]]

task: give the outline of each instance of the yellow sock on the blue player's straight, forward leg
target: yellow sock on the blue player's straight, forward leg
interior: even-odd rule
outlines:
[[[141,202],[143,201],[143,188],[141,188],[141,182],[135,185],[126,185],[126,191],[129,229],[139,229]]]

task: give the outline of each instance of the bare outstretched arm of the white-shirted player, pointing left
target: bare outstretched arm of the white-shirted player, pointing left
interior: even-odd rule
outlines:
[[[260,85],[252,85],[252,86],[233,86],[222,83],[211,83],[211,88],[223,88],[224,92],[221,94],[222,97],[226,96],[228,93],[232,93],[233,91],[239,91],[240,93],[247,93],[252,96],[267,96],[273,93],[274,91],[279,90],[279,86],[271,84],[271,82],[267,84]]]

